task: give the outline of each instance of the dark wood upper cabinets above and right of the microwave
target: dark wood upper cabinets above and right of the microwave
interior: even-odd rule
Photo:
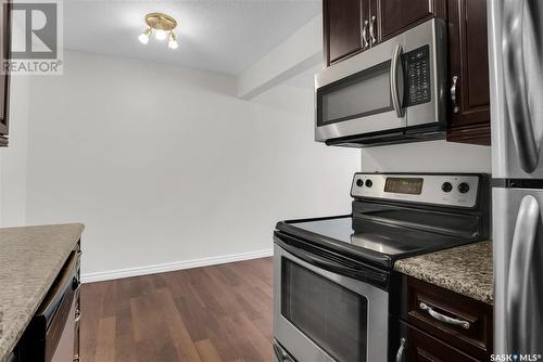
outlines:
[[[451,87],[446,139],[490,145],[487,0],[324,0],[323,4],[327,65],[432,17],[446,21]]]

